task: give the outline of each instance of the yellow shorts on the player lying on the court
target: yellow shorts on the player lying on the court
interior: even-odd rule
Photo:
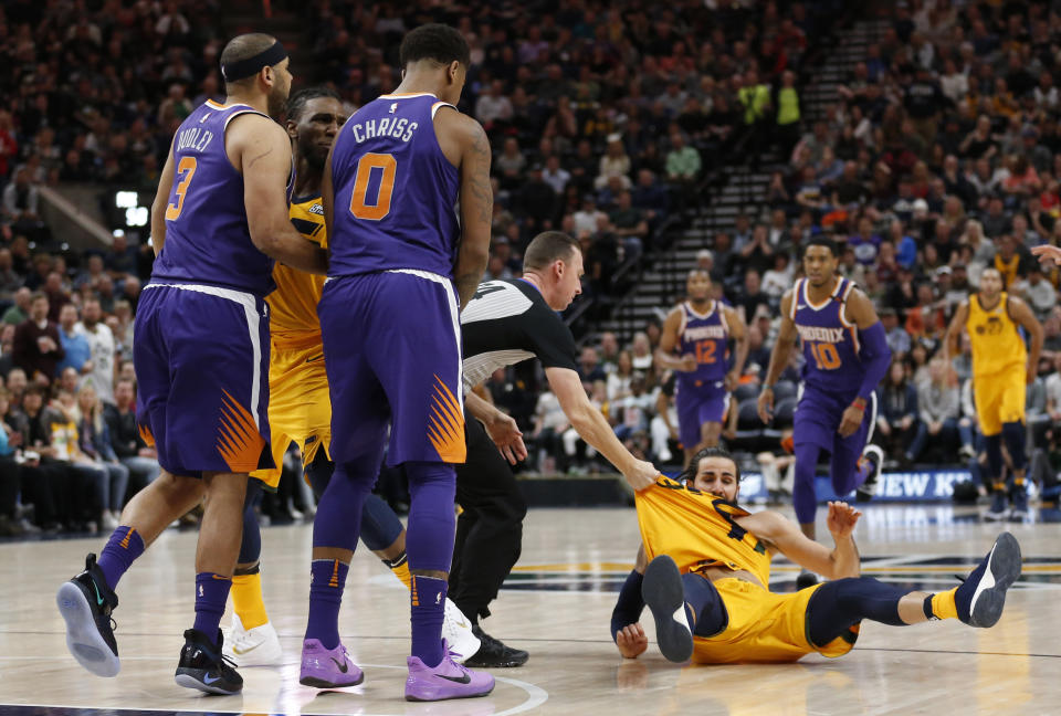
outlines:
[[[718,579],[714,585],[729,621],[714,636],[693,638],[693,661],[698,664],[777,664],[811,652],[842,656],[854,645],[842,638],[824,646],[810,643],[807,606],[821,585],[792,594],[775,594],[736,578]]]

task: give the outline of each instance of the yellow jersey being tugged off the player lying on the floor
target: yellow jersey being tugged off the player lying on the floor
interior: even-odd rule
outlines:
[[[766,545],[734,522],[749,513],[733,503],[685,487],[664,476],[637,494],[641,540],[651,561],[670,556],[682,573],[704,567],[747,570],[767,587]]]

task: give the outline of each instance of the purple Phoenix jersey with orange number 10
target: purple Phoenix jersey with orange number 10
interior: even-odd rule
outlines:
[[[803,385],[830,394],[857,392],[865,370],[859,358],[858,327],[843,315],[854,284],[847,278],[820,305],[810,302],[806,278],[796,282],[790,317],[803,347]]]

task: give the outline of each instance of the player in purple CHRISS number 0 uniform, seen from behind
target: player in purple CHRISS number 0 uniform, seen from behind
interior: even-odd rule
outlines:
[[[360,681],[339,641],[338,612],[361,506],[387,446],[387,462],[405,466],[411,494],[406,698],[441,701],[494,687],[491,675],[454,663],[441,639],[455,528],[453,465],[465,459],[458,316],[486,267],[491,152],[482,126],[454,107],[470,63],[464,38],[421,25],[399,53],[401,84],[347,119],[324,171],[332,256],[317,314],[335,473],[314,520],[300,681],[319,687]]]

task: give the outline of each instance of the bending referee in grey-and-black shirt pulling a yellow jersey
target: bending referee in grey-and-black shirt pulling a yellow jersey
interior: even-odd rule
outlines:
[[[589,402],[578,377],[575,338],[557,314],[581,293],[578,243],[558,231],[538,234],[524,254],[523,272],[523,278],[480,284],[461,314],[465,408],[477,420],[466,421],[468,461],[456,466],[456,501],[463,512],[456,525],[449,596],[482,640],[480,650],[464,662],[469,666],[518,666],[528,657],[479,626],[479,618],[490,615],[487,604],[519,558],[527,507],[508,463],[526,457],[527,450],[515,421],[472,389],[498,368],[537,358],[568,421],[631,487],[643,489],[659,474],[651,463],[623,448],[600,410]]]

